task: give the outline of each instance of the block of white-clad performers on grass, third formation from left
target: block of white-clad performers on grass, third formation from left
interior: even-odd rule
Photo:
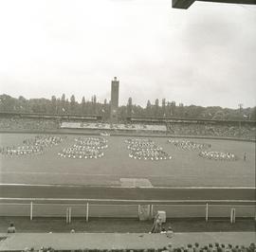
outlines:
[[[125,140],[130,150],[129,157],[138,160],[167,160],[172,156],[165,153],[161,147],[155,145],[155,142],[144,138],[129,138]]]

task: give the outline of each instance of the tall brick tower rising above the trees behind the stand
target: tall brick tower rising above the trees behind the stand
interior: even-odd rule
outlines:
[[[118,122],[119,111],[119,81],[117,77],[111,81],[111,103],[110,103],[110,121],[112,123]]]

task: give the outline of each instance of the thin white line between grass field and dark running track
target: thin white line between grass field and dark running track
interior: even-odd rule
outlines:
[[[0,186],[7,187],[64,187],[64,188],[116,188],[116,189],[131,189],[131,188],[140,188],[140,189],[256,189],[255,187],[119,187],[119,186],[90,186],[90,185],[52,185],[52,184],[5,184],[0,183]]]

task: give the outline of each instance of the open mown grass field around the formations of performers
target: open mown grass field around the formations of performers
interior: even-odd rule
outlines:
[[[1,134],[0,146],[22,145],[34,135]],[[213,161],[198,152],[181,151],[168,138],[152,137],[172,160],[131,159],[124,140],[109,136],[108,148],[99,159],[69,159],[58,156],[74,144],[75,135],[43,154],[9,157],[0,155],[0,183],[121,186],[120,178],[145,178],[155,187],[255,187],[255,143],[229,140],[196,139],[210,143],[212,151],[234,153],[237,161]],[[86,136],[84,136],[86,137]],[[247,153],[247,161],[243,160]]]

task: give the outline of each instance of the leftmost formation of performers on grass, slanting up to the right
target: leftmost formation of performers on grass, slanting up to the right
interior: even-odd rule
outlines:
[[[23,156],[35,153],[43,153],[44,148],[60,144],[63,137],[58,135],[36,135],[33,138],[23,140],[21,146],[1,147],[0,153],[8,156]]]

